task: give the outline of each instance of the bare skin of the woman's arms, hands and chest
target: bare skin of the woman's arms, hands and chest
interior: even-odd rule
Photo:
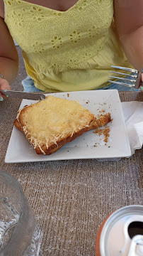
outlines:
[[[26,0],[27,1],[27,0]],[[57,11],[67,11],[78,0],[28,0]],[[138,0],[114,0],[114,18],[122,48],[135,69],[143,67],[143,2]],[[11,90],[10,84],[18,74],[18,53],[13,38],[4,22],[4,1],[0,0],[0,89]],[[143,81],[143,74],[140,76]],[[142,90],[143,92],[143,90]],[[5,95],[2,95],[4,98]],[[0,93],[1,97],[1,93]]]

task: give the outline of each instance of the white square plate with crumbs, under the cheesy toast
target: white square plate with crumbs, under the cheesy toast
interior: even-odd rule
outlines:
[[[6,152],[6,163],[21,163],[32,161],[55,161],[64,159],[116,159],[131,156],[125,121],[118,90],[92,90],[80,92],[52,93],[55,97],[67,100],[78,100],[84,107],[98,116],[102,111],[110,112],[110,137],[105,145],[104,138],[92,131],[86,132],[73,142],[62,146],[49,156],[38,155],[25,135],[13,127],[11,139]],[[25,105],[35,103],[34,100],[22,100],[20,109]],[[95,146],[96,145],[96,146]]]

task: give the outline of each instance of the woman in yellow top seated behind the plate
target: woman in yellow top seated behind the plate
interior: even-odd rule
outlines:
[[[38,90],[106,87],[111,65],[141,71],[141,9],[142,0],[0,0],[0,88],[18,73],[13,38]]]

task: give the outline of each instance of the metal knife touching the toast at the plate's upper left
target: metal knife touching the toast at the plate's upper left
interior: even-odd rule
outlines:
[[[4,95],[8,95],[10,97],[16,97],[20,99],[28,99],[28,100],[44,100],[45,99],[45,95],[43,93],[21,92],[21,91],[13,91],[13,90],[0,90],[0,92]]]

